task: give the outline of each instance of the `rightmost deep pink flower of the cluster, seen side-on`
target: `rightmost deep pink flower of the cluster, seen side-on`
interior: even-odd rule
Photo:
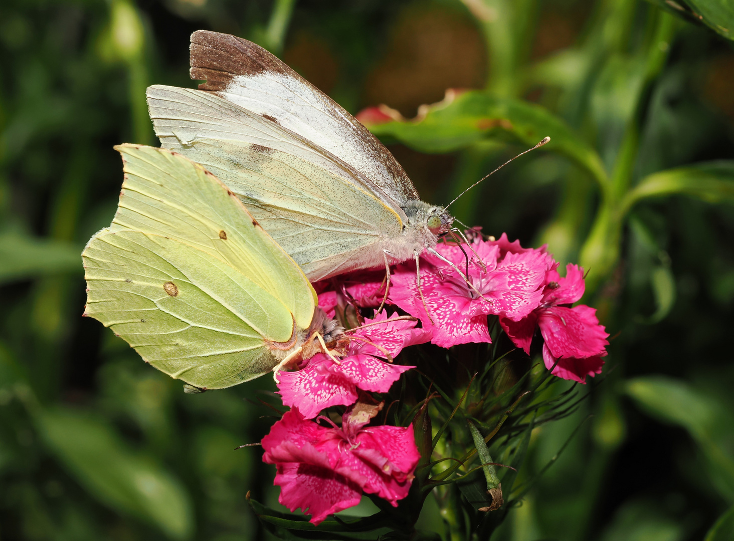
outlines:
[[[584,270],[569,264],[565,278],[561,278],[557,270],[551,270],[545,284],[540,306],[528,317],[520,321],[500,317],[500,323],[512,342],[526,353],[530,353],[538,326],[545,340],[545,366],[551,369],[560,359],[553,374],[584,383],[586,375],[601,372],[604,364],[601,357],[606,356],[605,347],[609,343],[606,340],[609,335],[599,324],[596,309],[584,304],[570,308],[584,295]]]

